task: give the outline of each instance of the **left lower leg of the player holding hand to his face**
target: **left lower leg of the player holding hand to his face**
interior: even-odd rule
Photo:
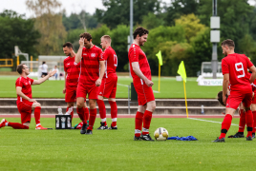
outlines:
[[[80,133],[85,134],[86,129],[87,129],[87,123],[86,123],[86,120],[85,120],[84,98],[83,97],[76,98],[76,111],[77,111],[77,114],[78,114],[80,120],[83,122]]]

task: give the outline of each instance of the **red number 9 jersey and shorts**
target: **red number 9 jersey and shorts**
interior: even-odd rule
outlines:
[[[226,101],[226,107],[237,109],[243,102],[249,107],[252,100],[252,89],[249,83],[247,68],[253,66],[249,59],[242,54],[229,54],[222,60],[223,74],[229,74],[230,95]]]

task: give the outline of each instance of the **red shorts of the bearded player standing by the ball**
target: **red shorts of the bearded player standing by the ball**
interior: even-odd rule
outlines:
[[[148,102],[155,101],[154,93],[151,86],[148,85],[137,85],[135,90],[138,94],[139,105],[145,105]]]

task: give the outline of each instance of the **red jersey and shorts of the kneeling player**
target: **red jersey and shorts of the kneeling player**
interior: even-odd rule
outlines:
[[[23,92],[26,96],[32,99],[32,83],[33,80],[29,77],[19,77],[16,80],[15,87],[20,86],[21,92]],[[32,102],[27,101],[17,95],[16,101],[19,113],[21,114],[21,123],[31,122],[31,114],[32,114]]]

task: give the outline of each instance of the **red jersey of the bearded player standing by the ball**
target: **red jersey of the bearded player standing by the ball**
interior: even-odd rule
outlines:
[[[139,69],[147,79],[151,80],[151,69],[148,64],[146,54],[142,51],[142,49],[138,45],[132,44],[128,52],[128,58],[129,58],[131,74],[134,79],[135,86],[139,84],[143,84],[144,81],[142,81],[132,69],[133,68],[132,63],[134,62],[139,62]]]

